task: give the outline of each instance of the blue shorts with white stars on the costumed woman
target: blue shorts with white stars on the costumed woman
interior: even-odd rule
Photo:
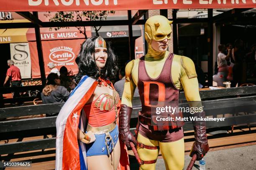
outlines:
[[[108,141],[108,146],[105,144],[106,134],[95,134],[96,140],[93,143],[86,145],[86,156],[95,156],[95,155],[108,155],[109,152],[112,153],[113,148],[115,148],[115,144],[118,142],[118,126],[115,126],[115,129],[110,132],[110,136],[113,139],[114,146],[112,141]]]

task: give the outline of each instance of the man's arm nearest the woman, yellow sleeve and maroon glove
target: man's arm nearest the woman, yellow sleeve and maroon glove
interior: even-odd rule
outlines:
[[[132,114],[132,99],[133,94],[136,88],[131,76],[131,71],[133,68],[133,62],[129,62],[125,67],[125,85],[123,90],[122,96],[122,104],[120,109],[120,137],[123,143],[130,148],[130,142],[133,142],[135,145],[136,139],[134,138],[133,134],[130,132],[130,120]]]

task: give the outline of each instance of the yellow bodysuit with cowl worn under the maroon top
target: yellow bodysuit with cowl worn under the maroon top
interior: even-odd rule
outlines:
[[[164,67],[168,51],[159,52],[151,47],[152,40],[169,40],[172,32],[172,21],[163,16],[154,16],[145,24],[145,38],[148,42],[148,53],[145,55],[145,67],[148,76],[152,79],[158,77]],[[157,29],[156,29],[157,28]],[[125,67],[125,85],[122,96],[122,104],[132,107],[133,94],[138,85],[138,70],[140,59],[132,60]],[[171,66],[171,77],[177,90],[184,89],[187,101],[200,101],[199,87],[195,65],[185,56],[174,55]],[[138,133],[137,141],[144,145],[156,146],[158,149],[146,149],[137,146],[138,154],[143,161],[156,160],[159,150],[164,158],[166,170],[182,170],[184,167],[184,139],[174,142],[160,142],[150,140]],[[154,170],[156,163],[144,164],[141,170]]]

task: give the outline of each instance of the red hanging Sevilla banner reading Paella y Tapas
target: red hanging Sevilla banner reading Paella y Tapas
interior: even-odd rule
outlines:
[[[42,41],[43,55],[44,55],[44,69],[46,76],[50,73],[47,64],[53,62],[58,70],[65,66],[73,74],[77,74],[78,67],[75,62],[77,54],[79,53],[80,47],[84,39],[77,40],[52,40]],[[31,53],[32,62],[32,77],[40,78],[40,68],[37,55],[36,42],[28,42]]]

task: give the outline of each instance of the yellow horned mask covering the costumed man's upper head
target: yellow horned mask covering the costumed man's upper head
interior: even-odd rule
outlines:
[[[162,41],[166,38],[171,39],[172,21],[169,21],[162,15],[156,15],[148,18],[145,23],[145,39],[148,44],[151,40]]]

